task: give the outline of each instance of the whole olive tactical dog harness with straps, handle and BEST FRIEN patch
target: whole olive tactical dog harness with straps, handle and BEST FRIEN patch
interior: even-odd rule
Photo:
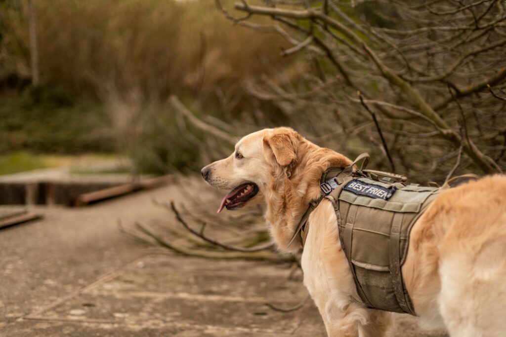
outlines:
[[[361,168],[355,169],[362,159]],[[368,161],[369,155],[362,154],[348,167],[329,168],[323,173],[322,196],[311,202],[288,246],[299,238],[304,247],[309,214],[326,198],[334,207],[341,247],[364,305],[416,315],[401,273],[409,233],[450,181],[443,187],[406,185],[404,176],[366,170]],[[454,179],[461,177],[476,176]]]

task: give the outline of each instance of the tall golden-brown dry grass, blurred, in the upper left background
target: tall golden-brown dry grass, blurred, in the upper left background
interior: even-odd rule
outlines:
[[[3,6],[0,68],[29,75],[28,5]],[[210,1],[39,1],[36,14],[41,78],[99,98],[112,88],[213,103],[242,78],[279,64],[284,45],[232,28]]]

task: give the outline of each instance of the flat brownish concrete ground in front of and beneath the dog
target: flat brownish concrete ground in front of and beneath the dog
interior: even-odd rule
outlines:
[[[162,253],[118,230],[166,221],[152,199],[178,198],[174,186],[86,208],[34,207],[40,221],[0,230],[0,336],[324,336],[289,266],[206,260]],[[396,316],[393,336],[422,333]]]

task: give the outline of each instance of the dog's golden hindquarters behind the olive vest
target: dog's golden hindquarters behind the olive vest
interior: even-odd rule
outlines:
[[[444,191],[415,227],[406,276],[422,318],[437,307],[452,336],[504,336],[506,176]]]

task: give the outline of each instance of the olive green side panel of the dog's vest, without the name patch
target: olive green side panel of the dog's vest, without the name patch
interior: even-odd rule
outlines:
[[[343,188],[325,197],[336,212],[339,239],[358,294],[369,308],[415,315],[401,267],[412,225],[440,190],[370,178],[353,178],[350,182],[356,180],[366,186],[396,188],[388,200],[356,195]]]

